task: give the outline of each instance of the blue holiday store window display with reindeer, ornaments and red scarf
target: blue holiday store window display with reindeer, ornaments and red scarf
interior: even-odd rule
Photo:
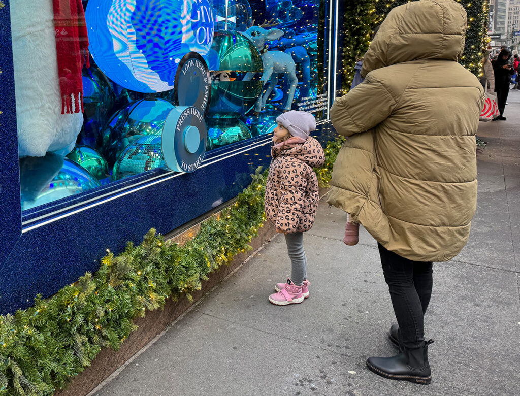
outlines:
[[[318,10],[319,0],[12,2],[22,208],[152,169],[194,171],[204,152],[271,133],[280,111],[323,119]],[[172,166],[172,155],[192,163]]]

